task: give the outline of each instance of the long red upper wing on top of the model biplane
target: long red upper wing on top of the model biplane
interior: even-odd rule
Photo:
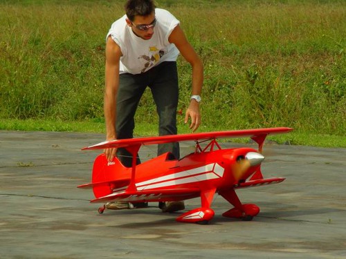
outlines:
[[[152,145],[152,144],[163,144],[169,142],[182,142],[191,140],[211,140],[223,137],[266,137],[266,135],[288,133],[292,131],[292,128],[256,128],[250,130],[239,130],[239,131],[215,131],[208,133],[189,133],[180,135],[165,135],[159,137],[136,137],[134,139],[125,140],[112,140],[108,142],[101,142],[93,146],[87,146],[82,150],[93,150],[103,148],[120,148],[135,145]]]

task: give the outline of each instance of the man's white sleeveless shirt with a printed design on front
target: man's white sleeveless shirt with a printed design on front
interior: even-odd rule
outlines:
[[[144,73],[163,61],[176,61],[179,50],[174,44],[170,44],[168,37],[172,30],[179,24],[167,10],[155,9],[156,26],[151,39],[142,39],[132,32],[127,26],[126,15],[111,25],[106,40],[111,35],[113,41],[118,44],[122,52],[120,57],[120,74]]]

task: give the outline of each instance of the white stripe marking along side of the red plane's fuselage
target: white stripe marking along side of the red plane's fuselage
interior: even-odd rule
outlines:
[[[205,180],[212,180],[222,178],[225,169],[217,163],[207,164],[195,169],[181,171],[179,173],[172,173],[159,178],[154,178],[136,184],[137,190],[142,191],[145,189],[155,189],[167,186],[174,186],[177,184],[189,184],[191,182],[201,182]]]

